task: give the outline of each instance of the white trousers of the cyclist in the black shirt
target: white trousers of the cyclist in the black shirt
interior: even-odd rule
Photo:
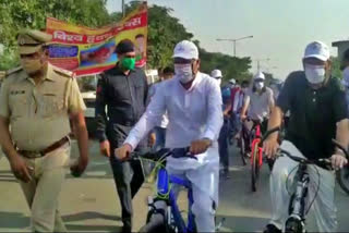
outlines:
[[[284,150],[289,151],[292,156],[304,157],[293,144],[284,140],[281,144]],[[288,218],[288,208],[290,195],[286,187],[287,179],[290,179],[288,186],[293,183],[297,173],[298,163],[288,157],[280,157],[276,160],[270,175],[270,196],[272,196],[272,220],[270,223],[278,229],[285,230],[285,222]],[[293,172],[292,172],[293,170]],[[315,219],[317,229],[306,229],[308,232],[336,232],[336,207],[335,207],[335,174],[320,167],[309,165],[310,185],[306,199],[305,210],[314,199],[317,191],[318,180],[320,187],[317,196],[310,209],[310,214]],[[320,179],[318,179],[320,174]],[[293,192],[291,189],[291,192]],[[306,224],[306,222],[305,222]],[[306,225],[309,226],[309,225]],[[306,228],[305,226],[305,228]]]

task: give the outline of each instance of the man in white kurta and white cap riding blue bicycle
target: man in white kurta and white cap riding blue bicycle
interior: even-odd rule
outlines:
[[[218,206],[217,139],[222,125],[221,94],[214,78],[198,72],[198,50],[193,42],[179,42],[173,59],[174,77],[155,93],[146,112],[123,146],[116,150],[116,156],[127,159],[167,111],[166,148],[190,147],[191,154],[197,157],[197,160],[168,158],[167,170],[192,183],[192,211],[197,231],[214,232],[215,207]]]

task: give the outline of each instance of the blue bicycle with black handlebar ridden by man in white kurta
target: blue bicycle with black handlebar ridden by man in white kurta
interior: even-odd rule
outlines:
[[[148,213],[146,224],[141,228],[140,232],[196,232],[195,217],[191,210],[194,203],[192,184],[188,180],[183,180],[176,175],[168,174],[166,170],[166,159],[172,158],[190,158],[197,159],[190,155],[189,148],[160,149],[156,152],[132,154],[132,159],[148,159],[156,162],[155,172],[157,172],[157,194],[148,197]],[[188,191],[188,223],[183,220],[181,211],[177,205],[177,197],[172,185],[179,185]],[[221,223],[216,229],[219,229]]]

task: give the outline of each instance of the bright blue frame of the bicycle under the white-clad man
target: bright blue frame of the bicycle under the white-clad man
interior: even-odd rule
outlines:
[[[173,189],[171,189],[172,184],[183,186],[188,189],[188,225],[185,225],[185,222],[177,205],[177,196]],[[169,175],[165,168],[159,169],[157,182],[157,198],[165,199],[171,207],[171,213],[173,214],[174,224],[178,228],[179,232],[194,232],[194,214],[191,210],[191,207],[194,203],[194,198],[192,192],[192,184],[190,183],[190,181],[183,180],[176,175]]]

